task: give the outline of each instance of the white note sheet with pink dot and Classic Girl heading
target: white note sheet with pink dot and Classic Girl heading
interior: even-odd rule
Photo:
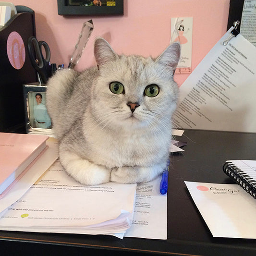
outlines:
[[[185,184],[214,237],[256,239],[256,199],[240,185]]]

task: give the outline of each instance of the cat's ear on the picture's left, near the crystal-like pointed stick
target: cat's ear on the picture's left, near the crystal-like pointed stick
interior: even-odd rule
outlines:
[[[99,67],[108,61],[116,60],[118,57],[110,44],[103,38],[97,38],[95,40],[94,56]]]

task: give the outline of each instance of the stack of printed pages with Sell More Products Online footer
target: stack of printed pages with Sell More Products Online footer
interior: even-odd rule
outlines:
[[[124,233],[133,219],[135,192],[136,184],[82,185],[68,176],[57,160],[5,211],[0,230]]]

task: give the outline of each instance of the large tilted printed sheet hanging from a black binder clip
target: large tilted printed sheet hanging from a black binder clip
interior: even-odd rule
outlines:
[[[256,132],[256,47],[241,34],[219,40],[180,87],[175,128]]]

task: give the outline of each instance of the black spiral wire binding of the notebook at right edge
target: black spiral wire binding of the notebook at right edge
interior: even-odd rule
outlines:
[[[237,168],[232,162],[223,165],[223,171],[235,180],[246,192],[256,198],[256,181],[244,171]]]

